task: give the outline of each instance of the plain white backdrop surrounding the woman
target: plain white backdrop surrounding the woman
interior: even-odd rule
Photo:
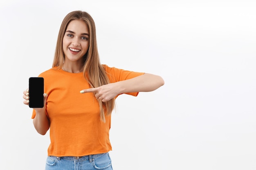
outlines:
[[[102,64],[165,81],[117,98],[114,170],[256,169],[255,0],[2,0],[1,170],[45,167],[49,133],[36,133],[22,92],[51,68],[75,10],[94,18]]]

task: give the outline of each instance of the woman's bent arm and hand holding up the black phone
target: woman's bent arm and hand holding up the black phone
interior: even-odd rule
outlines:
[[[25,101],[23,101],[23,103],[25,105],[29,105],[28,89],[26,91],[24,91],[23,94],[24,94],[23,98],[25,99]],[[47,118],[47,116],[45,114],[46,99],[47,99],[47,94],[44,94],[44,107],[43,108],[33,108],[36,111],[36,117],[33,119],[33,124],[34,124],[36,131],[41,135],[45,135],[45,133],[50,128],[49,119]]]

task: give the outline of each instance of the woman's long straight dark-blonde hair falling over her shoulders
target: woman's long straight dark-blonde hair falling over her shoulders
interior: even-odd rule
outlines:
[[[101,85],[106,85],[110,83],[107,73],[99,60],[99,53],[97,48],[97,39],[96,39],[96,27],[94,20],[92,17],[84,12],[84,11],[73,11],[68,13],[63,22],[61,24],[58,39],[55,49],[54,61],[52,67],[56,67],[61,69],[63,67],[63,63],[65,61],[65,54],[63,52],[63,37],[65,31],[67,29],[68,24],[72,20],[81,20],[85,22],[85,24],[89,27],[89,34],[90,34],[90,45],[88,52],[86,52],[83,63],[83,75],[85,79],[88,81],[92,88],[99,87]],[[103,122],[105,122],[105,112],[107,115],[112,113],[112,110],[115,107],[115,99],[111,99],[108,102],[99,102],[99,111],[100,111],[100,118]]]

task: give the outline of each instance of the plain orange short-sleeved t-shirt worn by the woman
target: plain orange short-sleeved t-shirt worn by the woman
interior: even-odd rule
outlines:
[[[103,65],[110,83],[142,75]],[[91,88],[81,73],[69,73],[56,68],[39,75],[44,78],[47,97],[46,113],[50,120],[48,156],[85,156],[112,150],[109,140],[111,115],[106,123],[100,120],[99,103],[94,93],[81,94]],[[127,93],[137,96],[138,92]],[[36,112],[33,110],[32,119]]]

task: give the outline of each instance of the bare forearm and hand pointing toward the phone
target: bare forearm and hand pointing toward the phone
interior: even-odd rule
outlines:
[[[135,78],[130,78],[116,83],[110,83],[96,88],[83,89],[80,93],[94,92],[95,97],[106,102],[118,94],[131,92],[152,92],[164,85],[161,76],[145,73]]]

